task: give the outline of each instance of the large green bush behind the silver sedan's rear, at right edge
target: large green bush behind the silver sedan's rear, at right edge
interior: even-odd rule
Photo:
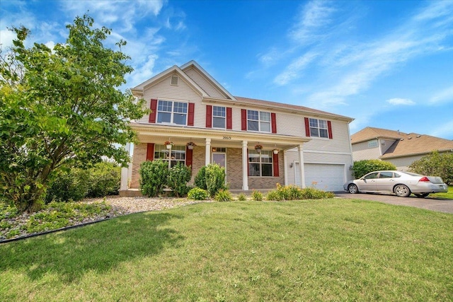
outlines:
[[[447,185],[453,185],[453,153],[433,151],[409,165],[413,173],[440,176]]]

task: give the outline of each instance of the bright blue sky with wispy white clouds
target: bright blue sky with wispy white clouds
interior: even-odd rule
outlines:
[[[127,40],[127,88],[195,59],[237,96],[353,117],[351,134],[380,127],[453,139],[453,1],[12,1],[6,28],[64,42],[89,11]]]

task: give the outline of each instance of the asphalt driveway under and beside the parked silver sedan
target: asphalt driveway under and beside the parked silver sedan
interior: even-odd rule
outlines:
[[[337,197],[349,199],[365,199],[373,200],[374,202],[384,202],[386,204],[396,204],[398,206],[417,207],[420,209],[428,209],[431,211],[441,211],[444,213],[453,214],[453,199],[435,198],[435,195],[429,195],[426,198],[418,198],[413,195],[409,197],[397,197],[391,194],[373,194],[373,193],[358,193],[350,194],[347,192],[335,192]]]

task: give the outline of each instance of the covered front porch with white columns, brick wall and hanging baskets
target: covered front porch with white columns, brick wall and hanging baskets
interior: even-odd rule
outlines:
[[[192,182],[203,165],[218,163],[225,168],[231,190],[268,190],[277,183],[287,185],[285,153],[297,148],[299,162],[304,162],[305,137],[222,130],[176,128],[150,124],[134,124],[139,144],[133,146],[132,163],[122,169],[120,193],[139,188],[139,165],[143,161],[162,159],[168,165],[184,161],[192,167]],[[166,141],[173,143],[170,148]],[[193,143],[192,146],[188,143]],[[256,149],[259,145],[261,148]],[[304,184],[304,170],[300,169]],[[124,194],[125,192],[123,192]]]

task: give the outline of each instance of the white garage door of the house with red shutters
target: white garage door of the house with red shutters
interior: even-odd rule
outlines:
[[[295,167],[296,184],[300,185],[299,163]],[[316,183],[315,187],[324,191],[343,191],[345,165],[306,163],[304,167],[306,187]]]

